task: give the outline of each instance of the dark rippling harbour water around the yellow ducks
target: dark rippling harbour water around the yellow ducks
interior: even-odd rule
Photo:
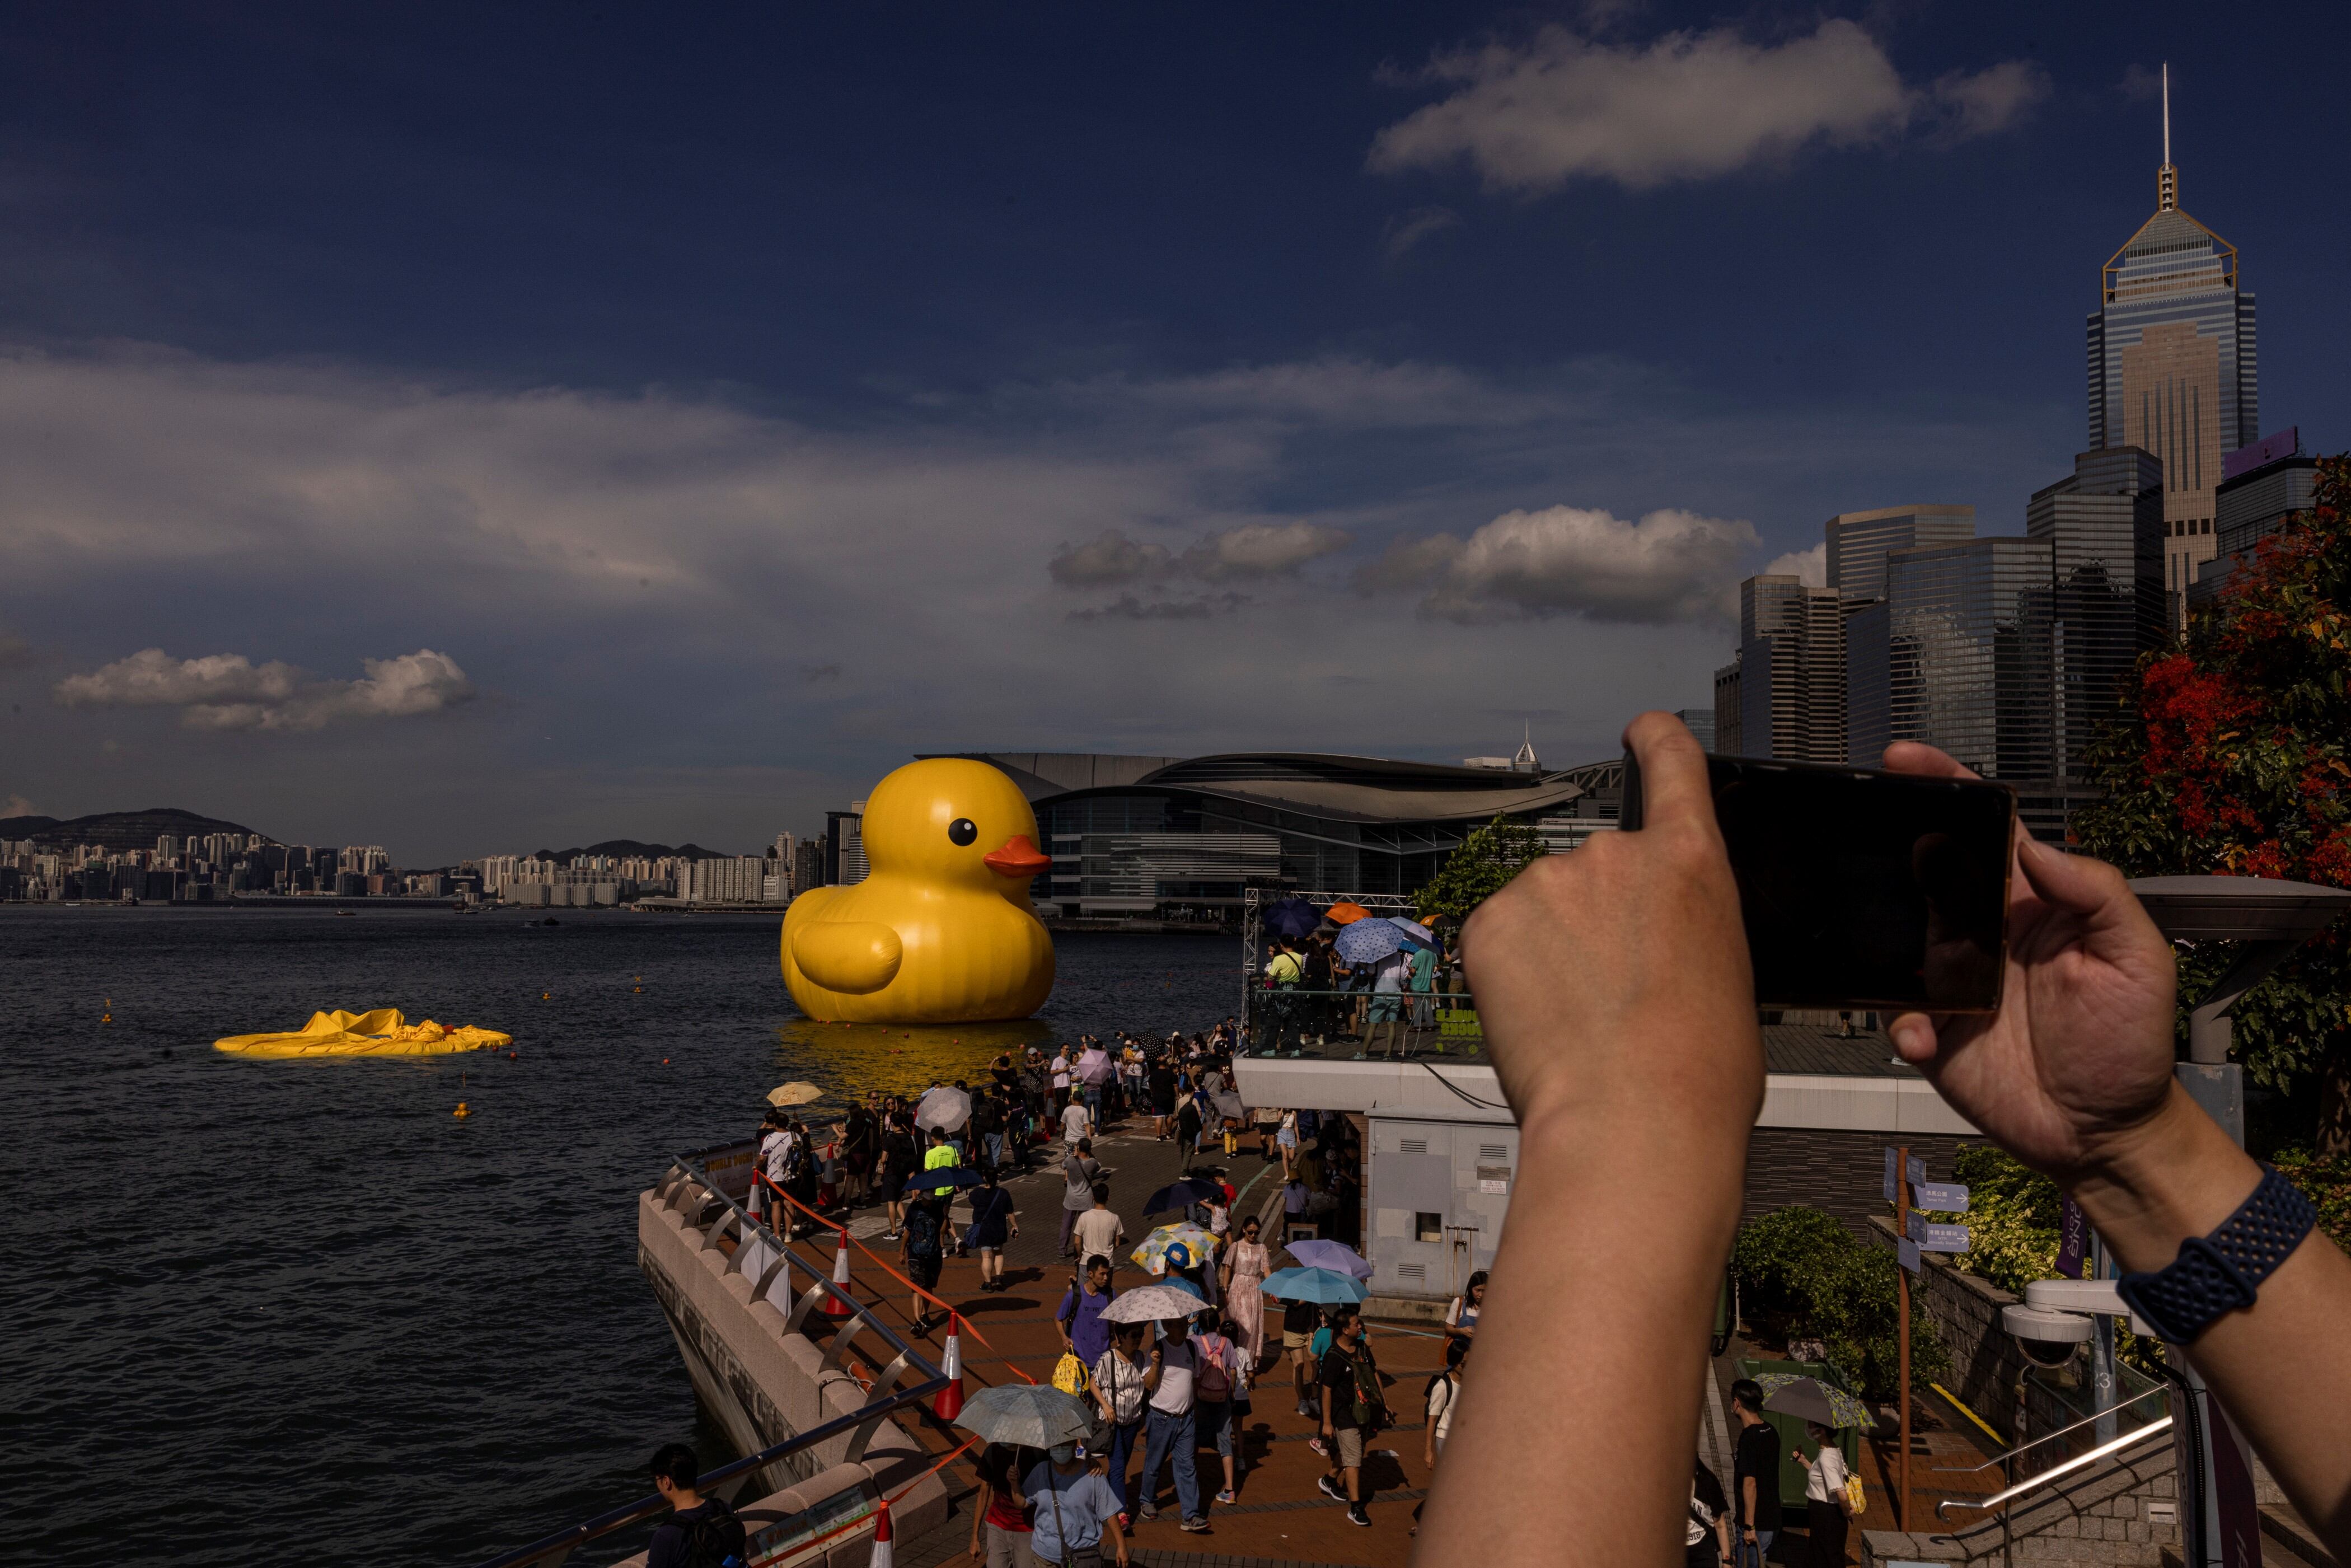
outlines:
[[[776,917],[557,922],[0,905],[0,1561],[470,1563],[625,1502],[661,1441],[724,1448],[635,1267],[670,1152],[785,1079],[919,1088],[1239,1006],[1237,940],[1074,933],[1034,1020],[816,1025]],[[212,1048],[336,1006],[515,1048]]]

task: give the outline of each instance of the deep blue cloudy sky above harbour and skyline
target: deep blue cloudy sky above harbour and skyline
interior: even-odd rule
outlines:
[[[917,750],[1547,759],[2017,531],[2182,205],[2346,444],[2339,9],[0,24],[0,806],[748,849]]]

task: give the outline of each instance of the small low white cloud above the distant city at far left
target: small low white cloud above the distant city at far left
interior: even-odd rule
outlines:
[[[308,682],[289,663],[245,654],[172,658],[141,649],[89,675],[56,682],[63,708],[179,708],[188,729],[324,729],[336,719],[409,719],[473,698],[447,654],[416,649],[360,661],[360,679]]]

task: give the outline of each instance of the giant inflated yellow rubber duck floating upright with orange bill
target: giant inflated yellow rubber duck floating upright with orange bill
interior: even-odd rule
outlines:
[[[1037,813],[985,762],[910,762],[865,802],[865,882],[809,889],[783,917],[783,980],[809,1018],[1027,1018],[1053,990],[1053,938],[1027,884],[1053,863]]]

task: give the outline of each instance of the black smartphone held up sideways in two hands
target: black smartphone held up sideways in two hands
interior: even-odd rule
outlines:
[[[2001,1006],[2015,790],[1763,757],[1707,757],[1707,778],[1759,1006]],[[1617,825],[1641,827],[1632,752]]]

